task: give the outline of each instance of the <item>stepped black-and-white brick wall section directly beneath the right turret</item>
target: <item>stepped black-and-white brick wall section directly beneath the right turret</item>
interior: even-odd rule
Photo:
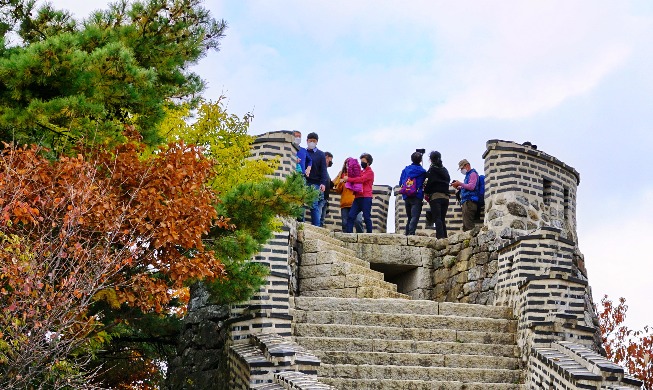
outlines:
[[[587,278],[574,261],[574,243],[545,228],[498,250],[497,305],[519,319],[518,345],[531,348],[573,341],[600,349],[598,319]]]

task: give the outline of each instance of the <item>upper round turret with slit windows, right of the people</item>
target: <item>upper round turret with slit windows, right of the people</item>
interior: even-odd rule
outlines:
[[[485,159],[485,225],[504,238],[542,227],[577,242],[579,173],[529,142],[489,140]]]

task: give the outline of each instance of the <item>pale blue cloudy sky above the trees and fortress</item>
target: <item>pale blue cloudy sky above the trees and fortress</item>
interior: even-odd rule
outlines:
[[[54,0],[83,17],[106,0]],[[577,223],[595,301],[653,325],[653,2],[207,0],[228,23],[195,71],[205,97],[374,157],[395,185],[417,148],[455,177],[489,139],[530,141],[580,172]],[[304,143],[305,145],[305,143]],[[648,240],[651,240],[650,242]],[[651,245],[650,245],[651,244]]]

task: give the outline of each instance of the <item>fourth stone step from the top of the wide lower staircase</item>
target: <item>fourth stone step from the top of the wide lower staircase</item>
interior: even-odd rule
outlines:
[[[451,331],[448,331],[451,332]],[[424,353],[424,354],[458,354],[518,357],[519,349],[514,344],[490,344],[455,341],[455,333],[448,339],[439,341],[393,340],[386,338],[347,338],[324,336],[296,336],[297,344],[318,351],[351,352],[389,352],[389,353]]]

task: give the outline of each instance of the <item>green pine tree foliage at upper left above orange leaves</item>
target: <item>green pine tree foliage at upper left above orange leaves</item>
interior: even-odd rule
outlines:
[[[124,125],[133,124],[146,144],[162,142],[165,108],[194,105],[204,89],[188,67],[217,50],[226,29],[201,3],[122,0],[77,22],[50,5],[8,0],[0,11],[0,141],[68,150],[124,141]]]

